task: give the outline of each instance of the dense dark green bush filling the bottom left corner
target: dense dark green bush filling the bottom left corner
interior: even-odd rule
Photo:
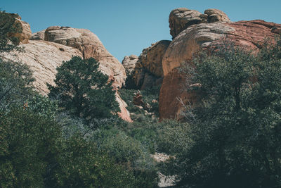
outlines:
[[[1,113],[0,138],[1,187],[42,187],[60,126],[22,106]]]

